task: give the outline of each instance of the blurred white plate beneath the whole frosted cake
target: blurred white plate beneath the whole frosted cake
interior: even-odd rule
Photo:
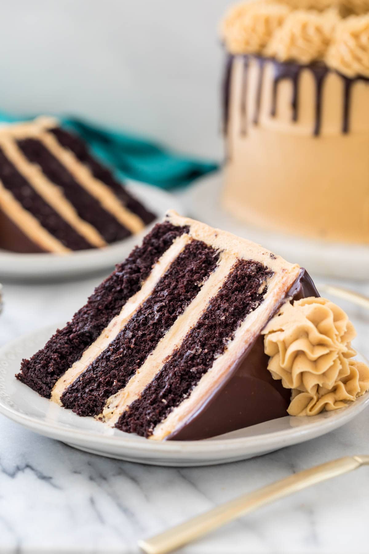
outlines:
[[[369,275],[369,247],[324,243],[292,237],[242,224],[222,207],[220,193],[222,172],[201,177],[185,197],[191,217],[262,244],[289,261],[294,261],[316,275],[367,280]]]

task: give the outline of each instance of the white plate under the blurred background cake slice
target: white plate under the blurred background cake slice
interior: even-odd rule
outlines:
[[[157,187],[133,181],[125,181],[126,188],[135,197],[141,200],[157,219],[162,219],[168,209],[182,212],[182,206],[173,194],[162,191]],[[114,265],[122,261],[131,252],[148,232],[149,227],[126,240],[120,240],[106,248],[82,250],[67,255],[55,254],[17,254],[0,250],[0,278],[4,279],[60,279],[76,275],[84,275],[92,271],[113,269]]]

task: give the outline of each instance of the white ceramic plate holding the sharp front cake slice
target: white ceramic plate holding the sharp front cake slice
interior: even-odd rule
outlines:
[[[0,349],[0,412],[41,435],[110,458],[171,466],[243,460],[320,437],[349,422],[369,404],[367,393],[347,408],[315,417],[287,416],[207,440],[155,442],[76,416],[14,378],[22,358],[43,347],[54,331],[55,326],[48,327]]]

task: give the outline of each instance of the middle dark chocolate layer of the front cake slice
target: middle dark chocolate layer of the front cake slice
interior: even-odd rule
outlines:
[[[66,389],[63,405],[79,416],[101,413],[198,294],[218,259],[219,253],[201,241],[186,245],[115,340]]]

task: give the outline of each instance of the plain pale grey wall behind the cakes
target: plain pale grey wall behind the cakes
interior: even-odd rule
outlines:
[[[1,4],[0,110],[89,117],[220,158],[217,25],[230,0]]]

